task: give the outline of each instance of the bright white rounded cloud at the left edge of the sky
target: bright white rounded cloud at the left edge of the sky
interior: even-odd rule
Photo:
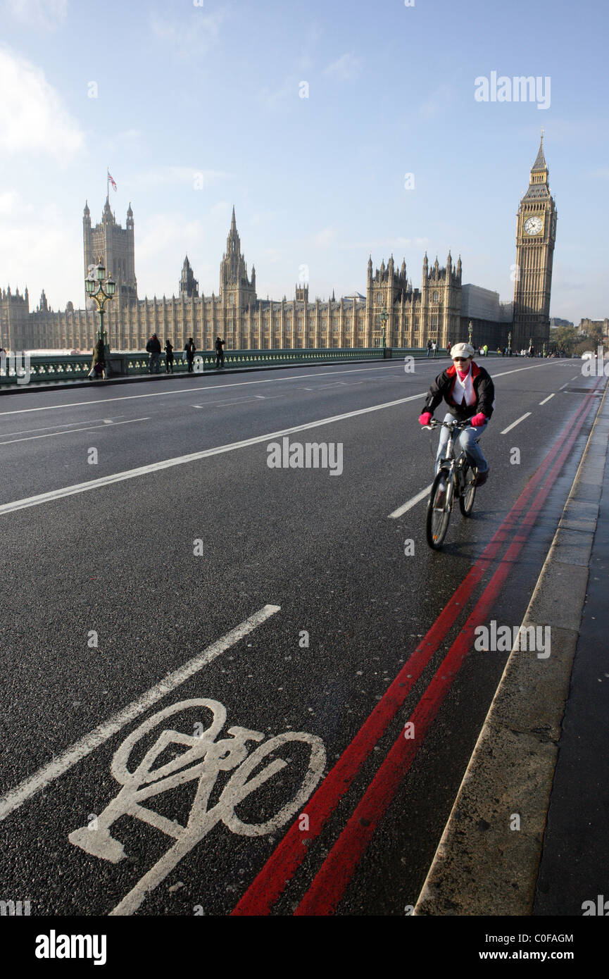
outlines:
[[[0,152],[39,153],[65,162],[84,138],[44,72],[0,47]]]

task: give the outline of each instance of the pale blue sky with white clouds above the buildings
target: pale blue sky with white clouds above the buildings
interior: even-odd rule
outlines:
[[[0,0],[0,286],[84,305],[110,167],[140,298],[186,254],[217,294],[234,205],[260,299],[365,294],[369,255],[420,288],[450,249],[508,302],[543,127],[550,315],[609,316],[608,28],[606,0]]]

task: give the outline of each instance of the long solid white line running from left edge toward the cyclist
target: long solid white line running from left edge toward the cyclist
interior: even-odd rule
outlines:
[[[359,408],[356,411],[348,411],[342,415],[334,415],[331,418],[321,418],[317,422],[305,422],[304,425],[294,425],[292,428],[282,429],[279,432],[269,432],[267,435],[258,435],[253,439],[244,439],[243,442],[233,442],[227,445],[218,445],[215,448],[205,448],[201,452],[191,452],[189,455],[178,455],[173,459],[164,459],[162,462],[153,462],[148,466],[139,466],[137,469],[127,469],[121,473],[114,473],[112,476],[103,476],[99,480],[89,480],[87,483],[76,483],[74,486],[64,487],[64,489],[52,489],[50,492],[39,493],[37,496],[28,496],[24,499],[14,500],[12,503],[0,505],[0,515],[3,513],[14,513],[16,510],[25,510],[29,506],[39,506],[41,503],[48,503],[50,500],[62,499],[64,496],[73,496],[76,493],[86,492],[88,489],[98,489],[99,487],[109,486],[112,483],[122,483],[124,480],[136,479],[138,476],[147,476],[150,473],[159,472],[162,469],[171,469],[173,466],[182,466],[187,462],[197,462],[199,459],[207,459],[212,455],[220,455],[223,452],[233,452],[238,448],[247,448],[250,445],[258,445],[262,442],[270,442],[284,435],[293,435],[295,432],[305,432],[307,429],[320,428],[323,425],[332,425],[334,422],[345,421],[348,418],[355,418],[357,415],[366,415],[372,411],[381,411],[384,408],[393,408],[406,401],[415,401],[423,397],[424,393],[412,395],[410,397],[400,397],[397,401],[387,401],[385,404],[373,404],[370,408]]]

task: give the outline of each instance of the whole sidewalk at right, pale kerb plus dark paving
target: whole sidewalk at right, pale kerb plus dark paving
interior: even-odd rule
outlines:
[[[551,655],[510,654],[415,914],[609,901],[608,441],[605,389],[523,623],[550,626]]]

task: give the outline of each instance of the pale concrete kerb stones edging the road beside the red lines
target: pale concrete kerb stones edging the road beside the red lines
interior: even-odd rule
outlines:
[[[592,517],[607,462],[607,439],[601,435],[606,431],[607,389],[523,621],[524,627],[551,626],[550,656],[539,659],[512,649],[416,915],[522,915],[533,908],[586,598]]]

